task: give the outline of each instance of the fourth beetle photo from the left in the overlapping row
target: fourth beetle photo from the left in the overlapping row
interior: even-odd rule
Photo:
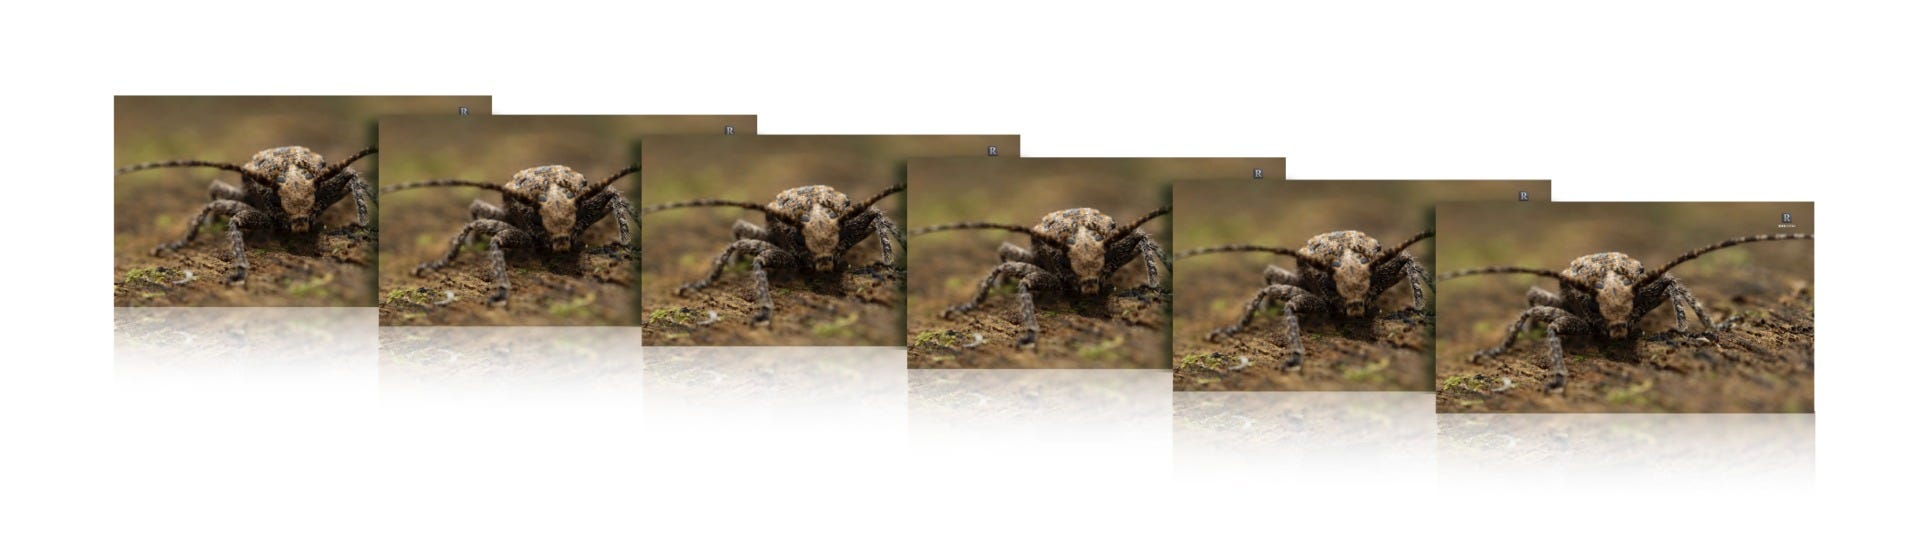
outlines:
[[[906,363],[1169,369],[1174,181],[1284,177],[1280,158],[913,159]]]

